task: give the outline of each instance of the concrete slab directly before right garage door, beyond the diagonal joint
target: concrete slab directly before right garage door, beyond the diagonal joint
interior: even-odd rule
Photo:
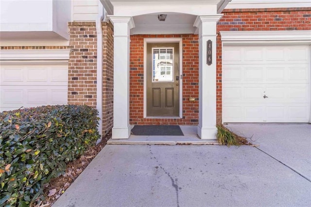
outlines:
[[[311,124],[228,124],[262,152],[311,181]]]

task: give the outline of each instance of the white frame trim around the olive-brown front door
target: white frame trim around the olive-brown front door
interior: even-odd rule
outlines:
[[[183,74],[183,38],[144,38],[144,117],[159,119],[159,117],[147,117],[147,43],[179,43],[179,77]],[[179,118],[183,118],[183,79],[179,79]],[[176,117],[161,117],[163,119],[176,119]]]

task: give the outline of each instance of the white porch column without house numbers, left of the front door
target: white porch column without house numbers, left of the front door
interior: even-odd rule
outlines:
[[[108,16],[114,26],[112,138],[129,138],[130,127],[130,29],[132,17]]]

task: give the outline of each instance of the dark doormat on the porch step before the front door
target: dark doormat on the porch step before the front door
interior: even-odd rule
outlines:
[[[184,136],[178,125],[135,125],[132,134],[138,136]]]

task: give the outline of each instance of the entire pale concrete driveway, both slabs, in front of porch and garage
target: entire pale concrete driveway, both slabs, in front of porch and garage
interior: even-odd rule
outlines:
[[[107,145],[53,207],[311,206],[311,125],[228,127],[259,147]]]

